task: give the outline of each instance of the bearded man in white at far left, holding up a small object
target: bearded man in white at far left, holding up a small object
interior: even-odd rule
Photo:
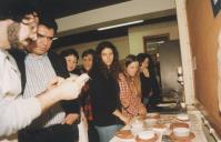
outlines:
[[[9,4],[4,4],[6,8],[1,4],[0,8],[0,141],[14,140],[11,134],[29,125],[57,102],[78,98],[88,80],[86,75],[76,80],[56,78],[38,97],[19,98],[20,72],[7,50],[23,49],[37,39],[38,17],[34,10],[24,3],[12,4],[9,0],[6,2]]]

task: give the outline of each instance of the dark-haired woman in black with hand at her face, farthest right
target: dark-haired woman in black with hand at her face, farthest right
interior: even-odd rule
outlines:
[[[153,61],[147,53],[139,53],[140,81],[142,101],[148,106],[154,106],[160,100],[160,89],[155,78]]]

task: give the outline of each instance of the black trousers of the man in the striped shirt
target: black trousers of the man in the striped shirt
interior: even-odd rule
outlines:
[[[38,130],[21,130],[19,142],[78,142],[78,125],[56,124]]]

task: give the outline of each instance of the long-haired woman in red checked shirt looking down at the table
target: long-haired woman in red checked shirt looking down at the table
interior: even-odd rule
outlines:
[[[145,115],[145,106],[141,102],[139,62],[135,55],[124,59],[123,70],[119,75],[120,100],[122,113],[129,118]]]

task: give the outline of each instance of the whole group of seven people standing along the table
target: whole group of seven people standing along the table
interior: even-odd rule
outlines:
[[[149,54],[120,63],[114,44],[102,41],[78,68],[74,49],[50,49],[57,30],[30,7],[0,14],[0,141],[108,142],[158,103]]]

